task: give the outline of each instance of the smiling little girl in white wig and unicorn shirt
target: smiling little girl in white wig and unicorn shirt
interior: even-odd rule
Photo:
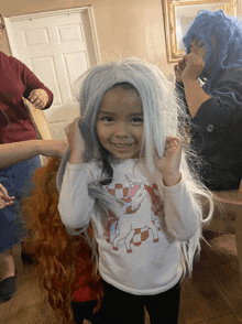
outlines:
[[[187,166],[176,102],[162,72],[139,58],[82,78],[58,209],[72,235],[94,226],[105,288],[99,323],[142,324],[144,306],[152,324],[177,323],[179,282],[191,272],[212,201]],[[210,201],[206,220],[199,196]]]

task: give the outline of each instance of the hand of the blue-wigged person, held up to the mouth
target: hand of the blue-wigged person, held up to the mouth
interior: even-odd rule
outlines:
[[[189,53],[188,55],[184,56],[184,60],[186,67],[180,75],[183,83],[186,79],[197,80],[205,68],[204,58],[195,53]]]

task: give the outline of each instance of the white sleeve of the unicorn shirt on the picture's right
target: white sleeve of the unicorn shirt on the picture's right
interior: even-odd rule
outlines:
[[[164,193],[165,222],[169,233],[180,241],[193,238],[200,226],[200,207],[183,177],[175,186],[165,186],[161,180],[158,187]]]

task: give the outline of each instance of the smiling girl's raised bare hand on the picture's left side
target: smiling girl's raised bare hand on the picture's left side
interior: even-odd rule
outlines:
[[[68,139],[68,143],[72,151],[85,151],[85,140],[80,133],[79,123],[81,121],[81,117],[74,119],[73,122],[67,125],[65,131]]]

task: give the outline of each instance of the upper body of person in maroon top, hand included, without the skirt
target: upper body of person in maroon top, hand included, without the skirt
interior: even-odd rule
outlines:
[[[3,25],[0,41],[2,32]],[[0,52],[0,143],[36,139],[22,97],[37,109],[46,109],[53,101],[52,91],[22,62]]]

